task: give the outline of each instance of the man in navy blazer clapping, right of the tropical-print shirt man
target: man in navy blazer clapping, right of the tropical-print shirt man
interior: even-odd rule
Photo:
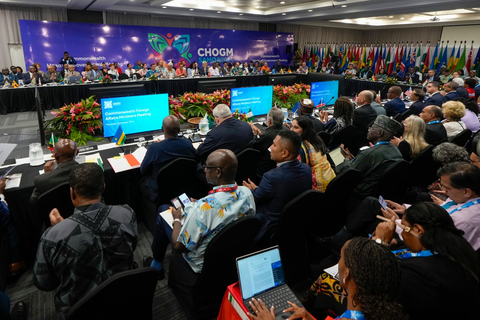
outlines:
[[[258,187],[250,179],[243,181],[252,190],[261,223],[255,242],[266,240],[275,232],[280,212],[289,201],[312,189],[312,170],[297,159],[300,147],[301,137],[297,132],[280,131],[270,146],[270,157],[277,167],[264,173]]]

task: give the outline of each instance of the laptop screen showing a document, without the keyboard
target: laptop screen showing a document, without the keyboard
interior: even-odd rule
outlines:
[[[237,258],[242,299],[285,284],[278,246]]]

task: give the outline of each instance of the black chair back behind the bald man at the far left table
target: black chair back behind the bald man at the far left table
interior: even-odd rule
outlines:
[[[45,227],[48,228],[50,218],[48,215],[52,209],[57,208],[63,219],[68,218],[73,214],[75,206],[73,206],[70,198],[70,183],[63,182],[58,186],[42,193],[36,202],[36,212],[45,222]]]

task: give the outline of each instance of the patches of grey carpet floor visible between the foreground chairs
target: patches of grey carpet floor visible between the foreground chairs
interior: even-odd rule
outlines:
[[[134,251],[134,260],[141,266],[144,255],[152,255],[150,246],[153,236],[144,226],[138,224],[138,245]],[[192,319],[192,315],[186,308],[182,307],[168,287],[168,257],[171,253],[171,246],[168,245],[165,257],[165,279],[158,281],[153,298],[153,319],[184,320]],[[17,301],[24,301],[28,308],[27,320],[56,320],[57,312],[54,305],[54,292],[38,290],[33,284],[33,266],[31,266],[18,281],[7,285],[5,293],[10,297],[12,306]],[[133,293],[135,294],[135,293]]]

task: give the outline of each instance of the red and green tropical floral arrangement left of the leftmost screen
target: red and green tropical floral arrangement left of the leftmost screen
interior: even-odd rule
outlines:
[[[95,133],[103,130],[102,109],[95,101],[95,96],[77,104],[65,105],[50,112],[55,118],[45,121],[45,129],[59,131],[59,138],[69,138],[78,145],[85,145],[87,140],[102,141]]]

